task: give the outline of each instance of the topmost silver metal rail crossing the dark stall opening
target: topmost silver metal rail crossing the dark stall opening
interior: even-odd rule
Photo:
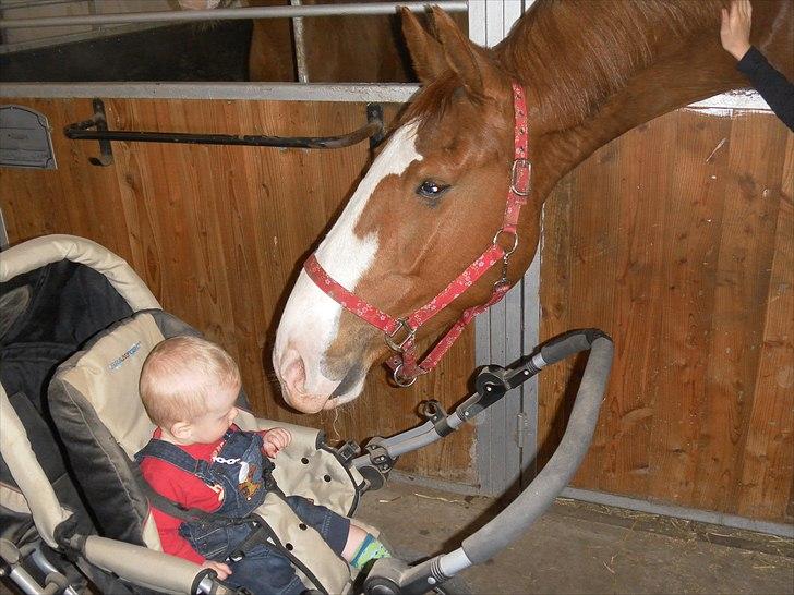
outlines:
[[[438,0],[433,2],[447,12],[466,12],[468,2]],[[371,4],[315,4],[300,7],[250,7],[196,11],[131,12],[91,16],[47,16],[39,19],[2,19],[0,28],[60,27],[68,25],[110,25],[116,23],[196,22],[240,19],[289,19],[298,16],[339,16],[395,14],[399,8],[424,12],[425,2],[373,2]]]

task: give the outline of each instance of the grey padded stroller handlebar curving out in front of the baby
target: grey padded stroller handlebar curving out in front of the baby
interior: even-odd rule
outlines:
[[[390,470],[394,459],[437,440],[459,427],[498,399],[519,386],[546,365],[554,364],[580,351],[590,350],[574,408],[560,446],[543,470],[524,491],[496,518],[464,539],[461,547],[409,567],[406,562],[386,558],[377,560],[366,581],[368,595],[418,595],[450,579],[461,570],[489,560],[513,543],[540,517],[568,485],[587,453],[603,402],[612,367],[612,340],[596,329],[579,330],[543,345],[540,351],[514,368],[485,367],[477,378],[477,392],[461,403],[452,415],[438,406],[431,408],[431,418],[422,426],[381,439],[369,454],[353,460],[362,470],[372,466]],[[383,459],[381,459],[383,458]],[[377,461],[381,461],[380,463]]]

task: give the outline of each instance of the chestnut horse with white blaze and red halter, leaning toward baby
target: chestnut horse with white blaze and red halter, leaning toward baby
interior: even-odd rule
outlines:
[[[273,351],[287,403],[352,401],[389,353],[400,385],[429,372],[436,351],[419,363],[416,342],[454,335],[521,277],[563,175],[641,123],[746,87],[719,41],[726,5],[538,0],[493,49],[437,8],[435,36],[404,10],[423,87],[289,294]],[[793,13],[754,12],[753,42],[789,77]]]

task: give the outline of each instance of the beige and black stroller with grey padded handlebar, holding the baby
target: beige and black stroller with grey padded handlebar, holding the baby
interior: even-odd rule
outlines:
[[[164,312],[118,256],[88,240],[50,235],[0,253],[0,576],[26,594],[239,593],[214,571],[161,551],[151,491],[132,457],[152,435],[137,394],[146,354],[164,338],[198,332]],[[268,541],[312,593],[449,593],[466,568],[520,535],[567,485],[587,452],[612,363],[612,341],[580,330],[503,368],[486,366],[454,412],[425,404],[423,424],[365,448],[333,447],[288,427],[276,479],[352,515],[398,457],[447,436],[546,365],[590,350],[560,448],[519,497],[450,552],[408,563],[377,560],[353,576],[277,496],[257,509]],[[238,404],[248,400],[241,391]],[[241,411],[243,429],[273,424]],[[294,471],[294,472],[293,472]],[[373,530],[375,531],[375,530]],[[92,592],[92,591],[88,591]]]

